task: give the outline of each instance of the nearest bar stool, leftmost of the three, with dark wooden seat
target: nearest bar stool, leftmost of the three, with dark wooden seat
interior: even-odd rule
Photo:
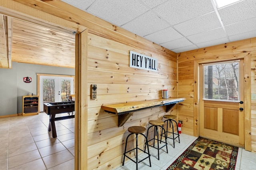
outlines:
[[[149,159],[149,164],[150,164],[150,167],[151,167],[150,154],[149,154],[149,148],[148,148],[148,140],[147,140],[146,136],[143,134],[145,131],[146,131],[146,128],[141,127],[141,126],[133,126],[133,127],[128,128],[128,132],[130,132],[130,134],[126,138],[126,143],[125,143],[125,148],[124,148],[124,158],[127,157],[130,160],[132,160],[130,157],[128,157],[126,155],[126,153],[131,152],[132,150],[136,149],[136,161],[132,160],[132,162],[136,163],[136,170],[138,170],[138,163],[142,162],[146,158]],[[126,151],[128,137],[131,136],[132,134],[136,134],[136,148],[133,148],[132,150]],[[144,136],[146,138],[145,150],[142,150],[142,149],[138,148],[138,134],[141,134],[142,136]],[[146,152],[146,146],[148,148],[148,152]],[[139,162],[138,162],[138,149],[143,151],[144,153],[148,154],[148,156],[146,158],[140,160]],[[124,160],[123,160],[123,166],[124,166]]]

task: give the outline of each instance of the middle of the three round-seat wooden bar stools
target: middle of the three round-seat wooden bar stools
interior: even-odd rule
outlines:
[[[157,148],[156,148],[156,149],[158,150],[158,160],[159,160],[159,150],[160,150],[161,148],[163,148],[164,146],[166,146],[166,153],[168,153],[166,136],[164,137],[164,138],[165,138],[165,142],[164,142],[164,141],[162,141],[162,136],[161,136],[161,140],[159,140],[159,133],[158,133],[158,127],[160,127],[160,128],[162,128],[162,130],[164,130],[164,135],[165,135],[165,129],[163,128],[164,122],[163,122],[163,121],[160,121],[160,120],[151,120],[151,121],[149,121],[148,123],[149,123],[150,125],[152,125],[152,126],[150,126],[150,127],[148,128],[148,131],[149,131],[149,129],[150,129],[151,127],[154,127],[154,138],[148,140],[148,142],[150,142],[151,140],[153,140],[153,145],[150,145],[150,144],[149,144],[149,146],[151,146],[151,147],[153,147],[153,148],[156,148],[156,147],[155,147],[155,140],[157,140]],[[148,138],[148,131],[147,131],[147,137],[146,137],[146,138]],[[156,136],[157,136],[157,138],[156,138]],[[164,145],[161,146],[160,148],[159,148],[159,142],[160,142],[160,143],[161,143],[161,142],[164,143]],[[145,150],[146,150],[146,147],[145,147]]]

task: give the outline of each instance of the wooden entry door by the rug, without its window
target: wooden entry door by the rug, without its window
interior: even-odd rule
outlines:
[[[234,146],[245,146],[244,136],[244,68],[243,60],[240,61],[240,101],[214,101],[203,99],[200,90],[200,136],[217,140]],[[200,87],[202,83],[202,65],[200,65]],[[211,78],[212,79],[212,78]],[[214,78],[213,78],[214,79]],[[227,81],[225,81],[226,84]],[[215,86],[221,81],[214,80]],[[208,84],[209,86],[209,84]],[[228,87],[228,85],[227,85]],[[208,87],[209,88],[209,87]],[[222,91],[223,93],[223,91]],[[222,95],[221,93],[219,95]]]

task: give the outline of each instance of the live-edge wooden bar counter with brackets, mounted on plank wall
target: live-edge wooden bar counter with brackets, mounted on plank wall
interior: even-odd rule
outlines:
[[[150,107],[166,106],[167,113],[177,103],[184,100],[186,100],[186,98],[154,99],[147,101],[119,103],[113,105],[102,105],[101,108],[108,113],[118,115],[118,127],[121,127],[129,119],[134,111],[139,111]]]

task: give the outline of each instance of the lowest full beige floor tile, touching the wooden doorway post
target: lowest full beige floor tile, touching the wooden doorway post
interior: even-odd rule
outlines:
[[[74,156],[68,151],[63,150],[55,154],[51,154],[43,158],[46,168],[52,168],[56,165],[62,164],[68,160],[73,159]]]

